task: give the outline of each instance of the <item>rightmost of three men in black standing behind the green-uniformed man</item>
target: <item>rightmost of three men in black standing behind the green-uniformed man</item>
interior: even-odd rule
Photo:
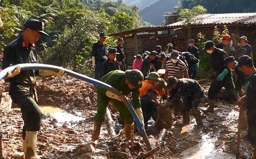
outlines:
[[[117,52],[119,53],[119,55],[117,55],[117,61],[119,63],[120,69],[122,71],[126,71],[126,65],[125,65],[125,51],[124,51],[124,47],[122,46],[124,44],[124,39],[123,38],[118,38],[118,42],[117,42]]]

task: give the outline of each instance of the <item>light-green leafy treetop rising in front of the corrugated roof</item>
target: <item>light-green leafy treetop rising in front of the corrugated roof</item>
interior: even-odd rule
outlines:
[[[191,24],[201,23],[203,20],[202,15],[207,12],[203,6],[198,5],[192,9],[181,9],[178,20],[184,20],[183,25],[189,27]]]

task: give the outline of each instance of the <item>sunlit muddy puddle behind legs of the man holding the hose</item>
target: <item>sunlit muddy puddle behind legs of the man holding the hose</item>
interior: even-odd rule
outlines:
[[[42,112],[49,113],[53,118],[55,118],[58,122],[79,122],[83,120],[84,118],[81,118],[79,116],[73,115],[71,113],[64,112],[64,110],[56,107],[52,107],[50,105],[39,105],[40,110]],[[12,110],[18,110],[20,111],[20,108],[13,108]]]

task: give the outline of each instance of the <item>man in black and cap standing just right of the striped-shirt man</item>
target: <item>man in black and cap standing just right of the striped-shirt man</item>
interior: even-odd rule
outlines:
[[[200,62],[200,52],[199,52],[199,49],[197,47],[194,46],[195,44],[195,40],[193,39],[190,39],[188,40],[188,48],[187,48],[187,52],[190,52],[191,54],[193,54],[195,56],[195,58],[198,59],[198,62],[197,63],[194,63],[194,67],[190,66],[192,73],[189,73],[189,76],[191,76],[192,79],[195,79],[196,77],[196,71],[197,69],[199,68],[199,62]]]

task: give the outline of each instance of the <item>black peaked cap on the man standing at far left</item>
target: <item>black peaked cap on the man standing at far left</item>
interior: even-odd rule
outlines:
[[[36,30],[40,33],[48,35],[44,32],[44,23],[36,19],[27,20],[27,22],[24,24],[24,28],[30,28],[32,30]]]

